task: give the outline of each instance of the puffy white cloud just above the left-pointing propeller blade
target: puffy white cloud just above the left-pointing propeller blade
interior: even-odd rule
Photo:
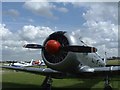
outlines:
[[[43,39],[47,37],[49,34],[53,32],[54,31],[49,27],[27,25],[27,26],[24,26],[21,31],[19,31],[19,36],[23,40],[37,41],[39,39]]]

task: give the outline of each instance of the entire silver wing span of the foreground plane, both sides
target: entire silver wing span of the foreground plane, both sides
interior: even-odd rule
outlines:
[[[24,71],[34,74],[40,74],[44,76],[51,76],[53,78],[64,78],[64,77],[103,77],[105,75],[115,76],[120,75],[120,66],[110,66],[110,67],[81,67],[76,73],[63,73],[60,71],[53,70],[51,68],[33,68],[33,67],[13,67],[13,66],[2,66],[2,68],[12,69],[17,71]]]

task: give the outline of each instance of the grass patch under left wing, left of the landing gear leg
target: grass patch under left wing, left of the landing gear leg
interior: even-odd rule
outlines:
[[[3,88],[39,87],[41,84],[40,82],[43,81],[43,79],[44,77],[40,75],[11,71],[11,72],[3,73],[2,86]]]

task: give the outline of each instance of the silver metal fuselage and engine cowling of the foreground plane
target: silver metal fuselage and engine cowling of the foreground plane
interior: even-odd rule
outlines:
[[[83,46],[84,44],[80,42],[75,36],[65,33],[64,36],[67,38],[69,45],[79,45]],[[68,52],[67,56],[63,61],[59,63],[50,63],[44,57],[42,53],[43,60],[45,64],[58,71],[62,72],[77,72],[77,69],[80,67],[104,67],[106,63],[97,53],[75,53]]]

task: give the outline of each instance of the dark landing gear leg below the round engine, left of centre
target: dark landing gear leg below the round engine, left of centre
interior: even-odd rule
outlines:
[[[43,90],[51,90],[51,86],[52,86],[51,76],[46,76],[41,86]]]

